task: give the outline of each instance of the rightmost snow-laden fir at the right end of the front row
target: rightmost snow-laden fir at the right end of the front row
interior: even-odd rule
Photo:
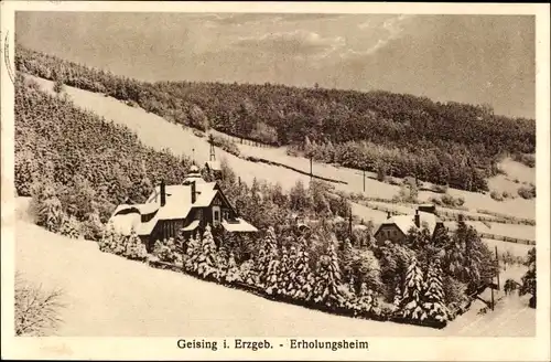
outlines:
[[[423,308],[428,310],[429,318],[440,322],[449,319],[447,308],[445,307],[444,288],[442,285],[442,268],[440,267],[439,259],[429,265],[424,298],[425,302],[423,304]]]

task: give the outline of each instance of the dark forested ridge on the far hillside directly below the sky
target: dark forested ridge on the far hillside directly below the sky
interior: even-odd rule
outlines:
[[[505,155],[523,160],[536,150],[534,120],[494,116],[487,106],[316,86],[145,83],[21,45],[15,64],[19,71],[127,100],[177,124],[291,146],[315,160],[381,177],[417,175],[486,191],[486,178],[499,172]]]

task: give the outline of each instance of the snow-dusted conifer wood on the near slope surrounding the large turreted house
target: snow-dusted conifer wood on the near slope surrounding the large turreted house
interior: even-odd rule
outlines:
[[[18,75],[15,187],[20,195],[33,196],[37,223],[47,230],[69,237],[84,233],[99,239],[102,251],[143,260],[148,256],[136,234],[110,234],[104,223],[127,198],[143,201],[160,179],[180,183],[190,164],[144,147],[127,128]],[[203,238],[159,241],[155,255],[166,262],[180,255],[186,273],[225,284],[237,280],[276,299],[440,327],[464,309],[465,292],[495,276],[491,253],[462,220],[455,232],[434,239],[423,228],[410,231],[404,245],[378,245],[369,227],[352,233],[346,223],[331,222],[334,215],[348,215],[350,205],[332,196],[327,184],[313,181],[306,189],[299,182],[285,194],[278,185],[255,181],[249,187],[236,179],[224,164],[223,190],[262,233],[235,237],[207,228]],[[290,226],[291,212],[324,222],[313,225],[310,236],[300,236]]]

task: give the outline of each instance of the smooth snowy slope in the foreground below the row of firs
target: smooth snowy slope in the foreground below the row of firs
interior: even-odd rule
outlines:
[[[25,207],[25,199],[20,209]],[[533,336],[536,310],[508,297],[478,316],[474,302],[443,330],[331,316],[270,301],[193,277],[99,252],[96,244],[15,223],[15,267],[32,283],[61,288],[66,308],[56,336],[64,337],[444,337]],[[511,268],[518,279],[523,273]],[[505,277],[505,275],[504,275]],[[504,279],[503,279],[504,280]]]

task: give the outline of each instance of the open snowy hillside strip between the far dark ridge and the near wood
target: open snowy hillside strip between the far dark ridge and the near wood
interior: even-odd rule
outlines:
[[[35,79],[43,89],[53,93],[52,82],[30,75],[25,76]],[[98,116],[102,116],[106,119],[111,119],[117,124],[128,126],[148,146],[151,146],[155,149],[169,148],[174,153],[184,153],[187,156],[195,155],[196,161],[201,163],[205,162],[208,159],[209,146],[206,139],[196,137],[195,135],[193,135],[193,131],[191,129],[171,124],[159,116],[147,113],[141,108],[129,107],[120,100],[111,97],[105,97],[100,94],[95,94],[68,86],[65,86],[65,92],[77,106],[93,110]],[[240,148],[242,155],[262,157],[264,159],[288,164],[306,172],[310,171],[309,160],[304,158],[290,157],[285,155],[284,148],[258,148],[247,145],[238,145],[238,147]],[[195,149],[195,152],[192,151],[193,149]],[[255,177],[262,180],[267,179],[269,175],[270,182],[279,182],[284,189],[290,189],[298,180],[302,180],[303,182],[307,182],[310,180],[307,175],[300,174],[285,168],[249,162],[224,152],[220,149],[217,149],[216,152],[218,158],[226,158],[230,167],[245,181],[250,182]],[[314,162],[313,168],[315,174],[345,181],[348,183],[346,185],[337,184],[336,188],[339,190],[347,192],[363,192],[363,177],[361,172],[359,172],[358,170],[334,167],[318,162]],[[508,160],[505,163],[504,170],[515,173],[515,177],[518,177],[518,173],[523,172],[522,170],[532,172],[533,174],[533,169],[530,171],[529,168],[526,168],[522,164],[511,160]],[[520,185],[505,179],[503,181],[509,182],[516,188]],[[510,185],[508,184],[508,188],[509,187]],[[366,179],[366,195],[391,199],[398,192],[399,187],[397,185]],[[536,217],[534,200],[528,201],[521,198],[517,198],[515,200],[497,202],[491,200],[489,194],[484,195],[480,193],[452,189],[450,190],[450,194],[454,196],[463,196],[465,199],[465,205],[472,211],[476,209],[484,209],[517,217]],[[434,194],[432,192],[419,193],[420,200],[422,201],[426,201],[429,198],[434,195],[437,196],[437,194]]]

